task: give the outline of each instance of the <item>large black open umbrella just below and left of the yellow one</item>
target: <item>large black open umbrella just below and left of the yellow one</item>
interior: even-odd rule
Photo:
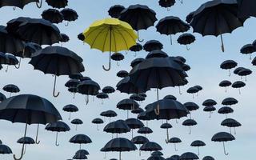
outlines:
[[[54,97],[59,95],[59,92],[55,94],[57,76],[77,74],[85,70],[82,58],[62,46],[47,46],[38,50],[32,56],[30,64],[34,66],[34,70],[41,70],[44,74],[54,74]]]

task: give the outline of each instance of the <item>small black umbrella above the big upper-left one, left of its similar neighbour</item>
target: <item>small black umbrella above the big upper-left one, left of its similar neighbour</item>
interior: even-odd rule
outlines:
[[[42,18],[52,22],[52,23],[60,23],[64,20],[63,14],[55,9],[48,9],[42,12]]]

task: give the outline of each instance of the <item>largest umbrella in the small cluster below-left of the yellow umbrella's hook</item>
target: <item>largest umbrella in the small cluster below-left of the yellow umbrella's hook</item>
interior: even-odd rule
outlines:
[[[89,95],[97,95],[98,90],[101,89],[101,87],[98,85],[97,82],[94,82],[93,80],[85,80],[82,81],[78,86],[78,93],[80,94],[86,94],[86,105],[89,102]]]

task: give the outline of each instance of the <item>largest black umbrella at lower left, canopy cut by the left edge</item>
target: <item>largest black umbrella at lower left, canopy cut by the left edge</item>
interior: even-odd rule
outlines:
[[[30,124],[43,124],[50,122],[57,122],[62,117],[58,113],[58,110],[54,105],[45,98],[38,97],[32,94],[21,94],[11,98],[7,98],[0,103],[0,119],[5,119],[10,122],[22,122],[26,123],[24,137],[26,137],[27,125]],[[38,140],[38,130],[36,142]],[[38,142],[37,142],[38,143]],[[22,154],[20,160],[23,157],[25,144],[22,145]]]

